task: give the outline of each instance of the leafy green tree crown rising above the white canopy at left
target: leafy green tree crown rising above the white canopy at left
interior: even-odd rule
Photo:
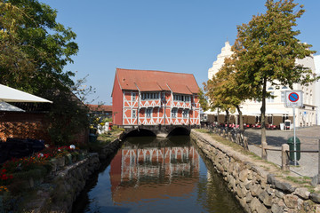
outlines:
[[[78,51],[76,34],[56,16],[37,0],[0,2],[0,83],[44,98],[73,84],[63,68]]]

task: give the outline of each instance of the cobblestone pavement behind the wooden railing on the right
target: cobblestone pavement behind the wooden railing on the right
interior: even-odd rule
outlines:
[[[261,144],[261,130],[247,129],[245,136],[249,137],[249,149],[252,153],[261,156],[261,148],[254,146]],[[293,130],[267,130],[268,146],[281,147],[293,137]],[[320,139],[320,126],[297,128],[296,137],[300,139],[300,150],[318,150]],[[268,162],[281,166],[281,152],[267,151]],[[299,166],[290,166],[290,170],[299,176],[314,177],[318,173],[318,154],[300,153]]]

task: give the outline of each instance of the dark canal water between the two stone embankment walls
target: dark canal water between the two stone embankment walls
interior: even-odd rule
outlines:
[[[187,136],[127,138],[73,212],[244,212]]]

